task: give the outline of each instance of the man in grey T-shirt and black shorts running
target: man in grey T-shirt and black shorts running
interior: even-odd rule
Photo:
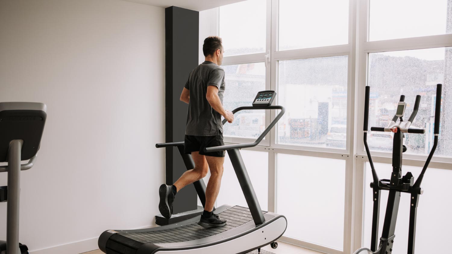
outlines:
[[[176,193],[186,185],[202,179],[210,169],[206,188],[206,206],[198,224],[203,227],[220,227],[226,220],[213,213],[213,206],[220,191],[225,151],[203,152],[206,147],[222,146],[223,125],[221,116],[229,123],[234,120],[231,111],[223,108],[225,72],[219,66],[223,60],[221,38],[207,37],[202,45],[205,61],[188,76],[180,100],[188,104],[184,152],[192,155],[195,168],[185,171],[173,185],[161,185],[159,189],[160,213],[170,218]]]

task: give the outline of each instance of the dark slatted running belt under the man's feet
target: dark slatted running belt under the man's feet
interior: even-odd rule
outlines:
[[[250,209],[240,206],[229,208],[218,215],[227,220],[225,226],[205,228],[194,222],[185,226],[160,231],[118,233],[117,237],[124,236],[140,243],[176,243],[213,236],[253,220]]]

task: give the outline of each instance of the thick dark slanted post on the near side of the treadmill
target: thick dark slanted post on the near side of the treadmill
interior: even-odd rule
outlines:
[[[265,222],[262,209],[260,208],[259,201],[256,193],[254,192],[253,185],[251,184],[250,176],[246,171],[245,163],[243,163],[242,156],[238,148],[227,150],[229,158],[231,159],[232,166],[234,167],[235,175],[239,180],[240,187],[245,195],[246,203],[250,208],[251,215],[253,216],[254,224],[260,225]]]

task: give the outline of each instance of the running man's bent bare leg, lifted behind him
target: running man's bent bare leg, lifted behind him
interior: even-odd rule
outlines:
[[[193,162],[195,162],[195,168],[185,171],[179,179],[174,183],[177,191],[184,188],[189,184],[193,184],[197,180],[204,178],[209,171],[209,167],[206,161],[206,156],[199,154],[199,152],[192,152]]]

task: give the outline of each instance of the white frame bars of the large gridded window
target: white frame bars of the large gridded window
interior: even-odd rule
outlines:
[[[271,212],[275,212],[276,209],[275,167],[277,153],[345,160],[343,250],[332,249],[286,236],[282,236],[280,240],[328,254],[353,253],[354,250],[362,245],[363,193],[364,188],[368,188],[368,186],[364,186],[364,164],[368,162],[368,158],[364,150],[362,131],[368,53],[452,46],[452,34],[369,42],[369,0],[349,0],[348,44],[278,51],[279,0],[265,1],[267,3],[266,51],[257,54],[226,56],[223,59],[223,65],[266,62],[265,89],[278,92],[279,60],[347,55],[347,142],[345,149],[278,144],[277,128],[273,128],[258,146],[245,149],[268,152],[268,211]],[[212,18],[212,21],[216,22],[218,35],[219,8],[216,9],[217,16]],[[277,103],[276,101],[275,104]],[[266,112],[265,122],[267,126],[275,118],[276,114],[277,112],[274,111]],[[254,139],[225,137],[226,143],[248,143],[252,141]],[[388,152],[372,152],[372,158],[374,162],[391,164],[391,153]],[[404,156],[403,163],[407,166],[424,166],[426,158],[427,155],[407,154]],[[434,156],[429,167],[451,170],[452,157]]]

